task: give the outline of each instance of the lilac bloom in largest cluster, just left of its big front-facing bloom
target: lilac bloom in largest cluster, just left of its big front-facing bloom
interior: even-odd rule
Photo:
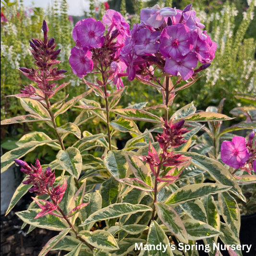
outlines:
[[[144,55],[158,52],[159,43],[157,40],[160,34],[159,31],[151,32],[148,28],[142,28],[137,34],[137,42],[134,46],[135,53]]]

